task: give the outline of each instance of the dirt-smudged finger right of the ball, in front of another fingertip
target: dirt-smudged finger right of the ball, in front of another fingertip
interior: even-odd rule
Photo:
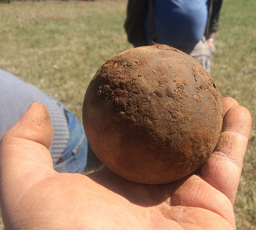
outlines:
[[[201,169],[204,179],[226,195],[232,204],[236,198],[242,173],[250,127],[251,115],[246,108],[242,106],[230,108],[223,118],[219,142]]]

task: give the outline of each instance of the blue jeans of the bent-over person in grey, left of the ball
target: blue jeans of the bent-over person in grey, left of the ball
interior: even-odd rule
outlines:
[[[70,137],[54,169],[59,173],[82,173],[87,164],[88,141],[76,117],[64,107]]]

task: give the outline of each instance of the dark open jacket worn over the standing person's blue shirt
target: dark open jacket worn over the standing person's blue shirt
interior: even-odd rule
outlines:
[[[145,36],[144,19],[148,10],[153,11],[149,7],[150,3],[154,4],[154,0],[128,0],[124,28],[128,36],[128,41],[135,47],[148,45]],[[206,38],[208,38],[210,32],[216,32],[219,29],[222,0],[208,0],[207,5],[208,20],[205,28]],[[153,15],[151,15],[151,20],[154,21],[152,17]],[[154,32],[154,24],[151,24],[151,30]]]

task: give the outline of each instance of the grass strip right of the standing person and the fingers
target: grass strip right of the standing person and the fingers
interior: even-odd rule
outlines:
[[[214,77],[222,96],[234,97],[251,112],[253,124],[234,205],[238,230],[256,229],[256,4],[223,1],[221,30],[213,58]]]

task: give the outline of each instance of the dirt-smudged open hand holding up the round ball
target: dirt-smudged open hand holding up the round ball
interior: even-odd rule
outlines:
[[[251,117],[231,98],[221,138],[199,174],[138,184],[103,166],[88,176],[54,171],[51,122],[34,103],[0,143],[0,205],[6,230],[234,230],[233,204]],[[150,169],[149,169],[150,170]]]

